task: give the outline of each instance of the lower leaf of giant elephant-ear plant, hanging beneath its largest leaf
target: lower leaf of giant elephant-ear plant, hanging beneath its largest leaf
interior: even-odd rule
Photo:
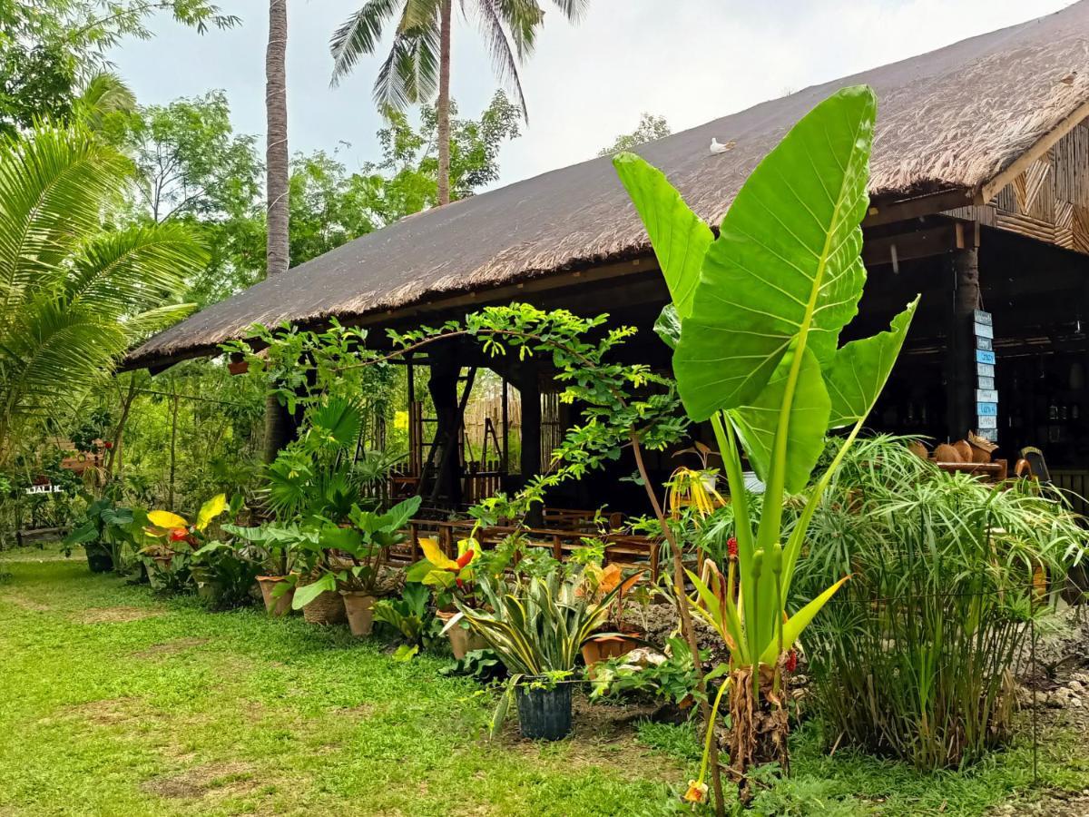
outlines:
[[[790,405],[784,405],[794,352],[788,352],[775,374],[752,405],[727,412],[737,436],[749,455],[757,476],[767,480],[771,468],[772,451],[780,413],[790,411],[786,430],[786,474],[784,487],[797,493],[806,487],[821,451],[824,450],[824,431],[828,429],[832,402],[824,387],[817,357],[808,349],[802,355],[802,366]]]

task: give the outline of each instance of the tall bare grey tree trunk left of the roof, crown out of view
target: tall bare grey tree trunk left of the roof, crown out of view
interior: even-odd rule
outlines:
[[[266,277],[287,271],[287,0],[269,0],[269,40],[265,52],[265,115],[267,240]],[[293,424],[286,406],[274,395],[265,402],[265,462],[272,462],[291,439]]]

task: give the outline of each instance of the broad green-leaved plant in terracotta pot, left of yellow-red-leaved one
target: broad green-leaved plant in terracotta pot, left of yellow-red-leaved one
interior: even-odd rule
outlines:
[[[330,598],[335,599],[335,605],[348,620],[352,633],[369,635],[375,601],[389,589],[383,573],[390,548],[404,541],[402,528],[419,510],[420,501],[420,497],[412,497],[386,513],[364,511],[353,505],[347,514],[351,520],[348,526],[322,525],[317,539],[317,558],[310,571],[313,581],[296,588],[292,606],[302,608],[306,614],[308,606],[318,602],[322,607],[317,612],[332,619],[335,613],[326,611],[334,606]],[[315,617],[311,615],[311,619]]]

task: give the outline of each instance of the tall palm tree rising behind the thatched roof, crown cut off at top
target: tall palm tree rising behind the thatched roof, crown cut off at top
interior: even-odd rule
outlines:
[[[552,2],[567,20],[576,22],[589,0]],[[537,0],[462,0],[462,12],[476,16],[495,73],[513,88],[526,117],[518,66],[533,52],[544,11]],[[382,29],[396,20],[390,53],[375,80],[375,101],[383,110],[403,110],[431,99],[438,89],[440,205],[450,203],[451,16],[452,0],[366,0],[330,41],[335,85],[360,57],[375,52]]]

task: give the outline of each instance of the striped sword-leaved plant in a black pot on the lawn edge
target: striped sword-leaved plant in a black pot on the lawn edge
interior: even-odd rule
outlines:
[[[558,741],[571,732],[568,679],[583,643],[605,621],[620,594],[617,585],[592,600],[579,593],[580,585],[580,577],[564,576],[560,569],[516,581],[512,587],[502,577],[481,574],[477,590],[482,607],[454,597],[461,614],[511,673],[492,719],[493,734],[512,699],[517,702],[523,736]]]

